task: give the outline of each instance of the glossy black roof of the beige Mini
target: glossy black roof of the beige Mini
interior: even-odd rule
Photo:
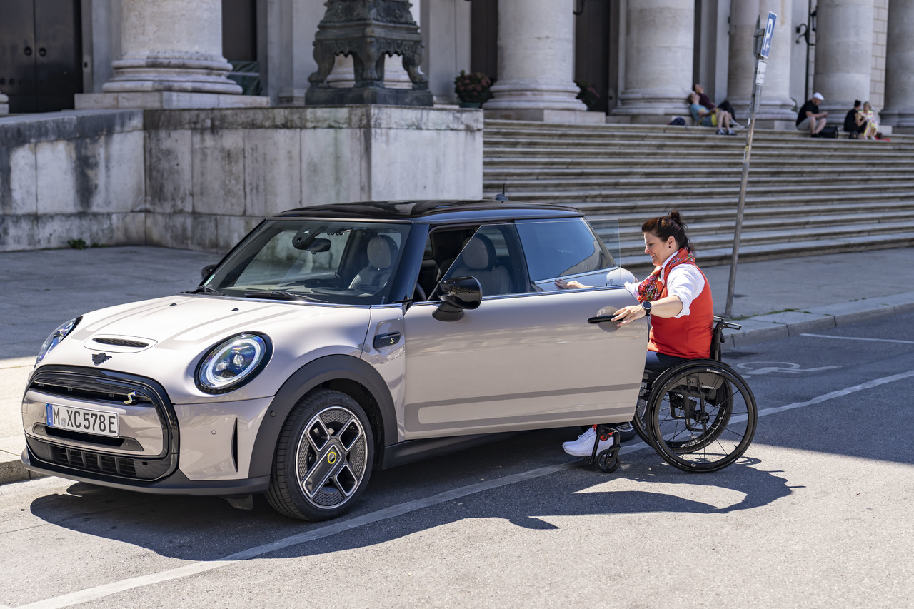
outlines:
[[[582,215],[575,208],[544,203],[495,199],[420,199],[334,203],[289,209],[276,214],[273,218],[405,220],[438,223],[498,219],[577,218]]]

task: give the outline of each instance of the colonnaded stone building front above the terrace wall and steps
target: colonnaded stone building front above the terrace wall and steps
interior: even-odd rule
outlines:
[[[77,108],[302,105],[325,10],[320,0],[74,5],[70,52],[82,60],[82,86],[69,107]],[[484,106],[495,116],[659,123],[685,111],[693,81],[745,112],[756,18],[771,11],[778,24],[760,124],[789,126],[795,108],[820,91],[827,110],[870,100],[883,123],[914,127],[914,3],[906,0],[415,0],[411,10],[438,104],[456,102],[453,78],[467,69],[496,78]],[[10,27],[0,27],[0,40],[12,37]],[[254,67],[257,96],[240,95],[230,80],[242,59]],[[0,65],[10,60],[0,55]],[[388,59],[393,87],[406,81],[396,64]],[[340,58],[331,80],[345,86],[349,78],[351,60]],[[21,91],[5,80],[0,95],[12,100],[0,97],[0,111],[9,103],[21,112]],[[576,80],[595,85],[600,102],[591,109],[604,117],[569,114],[587,110]],[[251,97],[260,99],[243,99]]]

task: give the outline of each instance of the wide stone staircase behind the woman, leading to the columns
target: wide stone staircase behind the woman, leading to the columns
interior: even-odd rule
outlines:
[[[678,209],[699,261],[732,254],[746,132],[486,120],[484,197],[579,208],[622,264],[643,271],[641,224]],[[753,134],[739,260],[914,245],[914,136]]]

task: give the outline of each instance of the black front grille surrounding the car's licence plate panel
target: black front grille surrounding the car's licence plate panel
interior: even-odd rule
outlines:
[[[132,457],[100,450],[72,448],[48,438],[27,436],[28,449],[38,460],[57,466],[62,471],[76,470],[90,477],[109,477],[152,481],[171,474],[177,468],[178,426],[175,409],[165,390],[152,379],[112,370],[69,366],[47,366],[37,370],[29,390],[51,396],[62,396],[97,403],[131,403],[155,409],[162,424],[163,451],[152,457]],[[63,430],[55,430],[59,432]],[[56,435],[57,433],[55,433]],[[100,443],[100,438],[69,437],[84,435],[76,432],[59,434],[60,440]],[[128,439],[129,440],[129,439]],[[131,440],[135,444],[135,441]],[[121,446],[124,448],[124,446]],[[139,449],[140,446],[136,445]]]

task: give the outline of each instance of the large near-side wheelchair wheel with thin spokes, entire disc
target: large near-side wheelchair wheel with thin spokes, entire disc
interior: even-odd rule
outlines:
[[[749,448],[758,412],[746,382],[713,360],[688,361],[664,372],[648,400],[654,448],[686,472],[716,472]]]

